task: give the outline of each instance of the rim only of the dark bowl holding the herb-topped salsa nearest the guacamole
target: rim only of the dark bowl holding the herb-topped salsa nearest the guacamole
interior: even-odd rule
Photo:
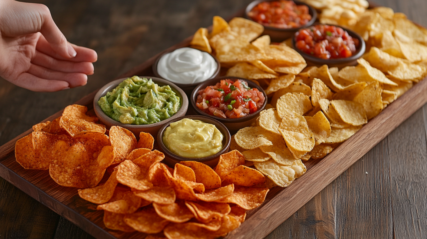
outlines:
[[[234,80],[241,79],[241,80],[246,81],[248,83],[249,87],[251,87],[251,88],[257,88],[259,91],[261,91],[264,94],[264,97],[266,98],[264,100],[264,103],[261,106],[261,108],[257,109],[257,111],[255,111],[254,113],[249,114],[247,116],[243,116],[243,117],[240,117],[240,118],[226,118],[226,119],[219,118],[219,117],[216,117],[216,116],[213,116],[213,115],[210,115],[210,114],[207,114],[207,113],[201,111],[199,109],[199,107],[196,106],[196,99],[197,99],[197,95],[198,95],[197,92],[199,90],[201,90],[202,87],[205,88],[208,85],[215,85],[217,82],[220,82],[222,79],[234,79]],[[245,122],[245,121],[253,119],[254,117],[257,116],[257,114],[259,112],[263,111],[263,109],[267,105],[268,98],[267,98],[267,94],[265,93],[265,91],[263,90],[262,87],[260,87],[259,85],[255,84],[254,82],[252,82],[252,81],[250,81],[248,79],[245,79],[245,78],[242,78],[242,77],[236,77],[236,76],[221,76],[221,77],[217,77],[215,79],[211,79],[211,80],[202,82],[198,86],[196,86],[196,88],[194,88],[193,92],[191,92],[190,101],[191,101],[191,105],[193,106],[193,108],[197,112],[197,114],[200,114],[200,115],[203,115],[203,116],[206,116],[206,117],[210,117],[212,119],[216,119],[219,122],[240,123],[240,122]]]

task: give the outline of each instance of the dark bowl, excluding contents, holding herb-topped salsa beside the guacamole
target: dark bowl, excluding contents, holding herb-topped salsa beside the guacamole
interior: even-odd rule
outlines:
[[[206,87],[208,87],[210,85],[215,85],[216,83],[221,82],[221,80],[223,80],[223,79],[231,79],[232,81],[236,81],[238,79],[241,79],[241,80],[246,81],[248,83],[248,85],[247,85],[248,87],[256,88],[256,89],[258,89],[258,91],[263,93],[263,95],[265,97],[263,104],[259,108],[257,108],[257,111],[255,111],[254,113],[240,117],[240,118],[217,117],[217,116],[210,115],[210,114],[206,113],[205,111],[202,111],[196,105],[197,96],[199,95],[199,91],[205,89]],[[235,77],[235,76],[222,76],[222,77],[218,77],[218,78],[215,78],[212,80],[205,81],[205,82],[201,83],[200,85],[198,85],[196,88],[194,88],[193,92],[190,95],[191,105],[193,106],[194,111],[196,111],[196,114],[216,119],[219,122],[221,122],[222,124],[224,124],[228,128],[228,130],[233,131],[233,132],[235,132],[241,128],[251,126],[253,123],[255,123],[255,120],[259,116],[260,112],[266,107],[267,100],[268,100],[267,95],[266,95],[266,93],[262,87],[260,87],[259,85],[255,84],[254,82],[252,82],[248,79],[244,79],[241,77]]]

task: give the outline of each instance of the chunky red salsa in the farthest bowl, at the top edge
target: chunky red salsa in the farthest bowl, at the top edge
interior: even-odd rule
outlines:
[[[287,0],[259,3],[248,16],[264,26],[284,29],[304,26],[311,20],[307,6]]]

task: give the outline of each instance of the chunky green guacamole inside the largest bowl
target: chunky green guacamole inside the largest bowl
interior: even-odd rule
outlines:
[[[101,97],[98,105],[111,119],[123,124],[148,125],[173,116],[181,107],[169,85],[132,76]]]

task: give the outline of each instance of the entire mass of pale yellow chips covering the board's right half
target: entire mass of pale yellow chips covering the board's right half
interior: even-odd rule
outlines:
[[[211,35],[199,29],[194,37],[204,32],[205,47],[199,49],[213,49],[222,66],[230,67],[228,76],[259,82],[271,97],[254,127],[240,129],[231,145],[271,180],[270,187],[289,186],[306,172],[303,161],[325,157],[427,75],[427,31],[404,15],[383,7],[365,11],[365,1],[306,2],[324,17],[331,9],[354,12],[351,21],[337,23],[354,26],[368,42],[357,66],[306,67],[285,42],[257,38],[263,27],[239,17],[229,24],[214,17]]]

